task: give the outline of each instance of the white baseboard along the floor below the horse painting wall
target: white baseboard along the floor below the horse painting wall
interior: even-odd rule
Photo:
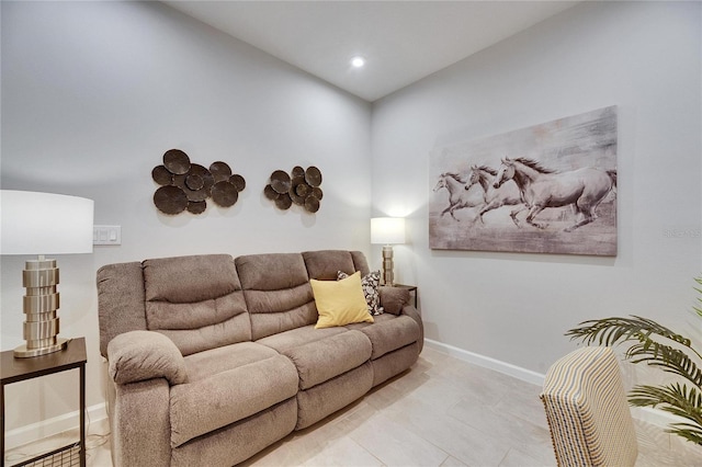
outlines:
[[[521,379],[522,381],[531,383],[536,386],[543,386],[544,379],[546,378],[546,375],[542,375],[541,373],[532,372],[531,369],[525,369],[517,365],[512,365],[511,363],[506,363],[496,358],[491,358],[489,356],[468,352],[466,350],[444,344],[443,342],[433,341],[431,339],[424,339],[424,345],[464,362],[468,362],[484,368],[494,369],[496,372],[512,376],[517,379]],[[667,428],[670,423],[682,421],[682,419],[673,415],[672,413],[664,412],[663,410],[652,409],[648,407],[633,407],[632,417],[636,420],[641,420],[643,422],[650,423],[660,428]]]

